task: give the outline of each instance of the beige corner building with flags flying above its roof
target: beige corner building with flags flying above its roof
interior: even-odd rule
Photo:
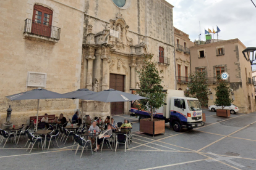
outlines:
[[[190,47],[191,71],[206,72],[208,76],[208,105],[214,105],[216,76],[226,72],[229,75],[234,105],[241,113],[255,111],[254,83],[252,68],[242,54],[246,47],[239,39],[213,42]]]

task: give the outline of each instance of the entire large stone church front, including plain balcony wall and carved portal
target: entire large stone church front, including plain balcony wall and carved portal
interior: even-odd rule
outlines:
[[[87,88],[137,89],[142,56],[154,54],[164,89],[175,89],[173,6],[164,0],[0,1],[0,124],[11,105],[14,124],[36,115],[35,100],[4,96],[41,87],[65,93]],[[122,107],[119,107],[119,106]],[[109,114],[109,104],[84,102],[85,114]],[[129,113],[114,103],[113,113]],[[40,100],[44,113],[71,118],[81,101]]]

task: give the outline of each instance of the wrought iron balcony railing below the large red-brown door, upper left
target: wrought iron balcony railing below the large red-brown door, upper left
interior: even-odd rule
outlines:
[[[26,19],[23,33],[35,34],[38,36],[59,40],[61,28]]]

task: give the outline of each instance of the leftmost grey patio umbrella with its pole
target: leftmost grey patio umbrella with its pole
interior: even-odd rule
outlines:
[[[18,94],[13,94],[6,96],[7,99],[10,100],[32,100],[37,99],[37,113],[36,113],[36,131],[38,126],[38,111],[39,111],[39,100],[40,99],[59,99],[63,98],[62,94],[59,94],[57,92],[48,91],[46,89],[33,89],[32,91],[27,92],[20,92]]]

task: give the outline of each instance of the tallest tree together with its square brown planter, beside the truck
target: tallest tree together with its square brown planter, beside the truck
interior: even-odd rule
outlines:
[[[164,105],[166,92],[163,92],[163,70],[158,71],[157,63],[152,60],[153,54],[143,55],[143,66],[140,70],[136,70],[139,75],[139,90],[137,94],[147,99],[140,100],[137,103],[138,110],[148,112],[150,118],[140,119],[140,131],[148,134],[163,134],[165,132],[165,121],[156,119],[156,110]]]

